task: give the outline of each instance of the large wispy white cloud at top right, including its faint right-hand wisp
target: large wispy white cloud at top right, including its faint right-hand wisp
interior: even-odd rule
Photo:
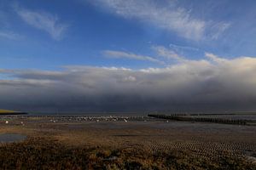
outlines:
[[[230,23],[225,21],[196,18],[193,14],[196,11],[180,7],[176,1],[89,0],[89,2],[126,19],[140,20],[195,41],[218,39],[230,27]]]

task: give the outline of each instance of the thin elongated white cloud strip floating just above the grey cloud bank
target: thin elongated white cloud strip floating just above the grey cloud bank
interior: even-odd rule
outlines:
[[[158,63],[160,65],[165,65],[164,61],[161,61],[159,59],[154,59],[153,57],[145,56],[145,55],[138,55],[138,54],[132,54],[132,53],[125,53],[122,51],[113,51],[113,50],[105,50],[103,52],[105,55],[107,55],[110,58],[115,59],[137,59],[137,60],[146,60],[154,63]]]

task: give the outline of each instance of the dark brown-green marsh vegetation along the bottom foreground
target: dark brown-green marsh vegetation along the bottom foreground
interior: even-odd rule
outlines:
[[[252,162],[228,153],[207,159],[189,150],[68,146],[47,138],[2,144],[0,165],[1,169],[256,169]]]

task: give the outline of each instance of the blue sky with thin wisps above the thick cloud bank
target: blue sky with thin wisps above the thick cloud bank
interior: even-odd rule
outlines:
[[[254,1],[158,2],[1,0],[0,67],[162,67],[104,54],[112,50],[155,57],[153,46],[188,59],[201,59],[205,52],[225,58],[255,56]]]

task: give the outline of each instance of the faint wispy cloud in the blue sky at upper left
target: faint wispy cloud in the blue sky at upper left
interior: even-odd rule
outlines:
[[[67,31],[67,24],[61,23],[60,19],[56,15],[42,11],[32,11],[18,6],[15,6],[15,12],[28,25],[48,32],[55,40],[60,40],[65,34],[65,31]]]

